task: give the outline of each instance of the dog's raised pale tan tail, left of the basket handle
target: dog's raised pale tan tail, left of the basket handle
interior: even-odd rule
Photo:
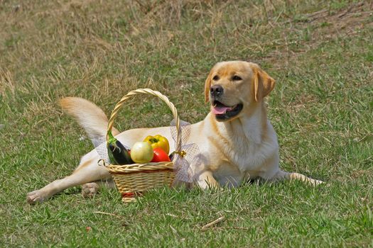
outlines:
[[[91,140],[105,137],[109,120],[96,104],[79,97],[65,97],[60,100],[60,106],[77,120]],[[117,135],[119,131],[112,128],[112,133]]]

